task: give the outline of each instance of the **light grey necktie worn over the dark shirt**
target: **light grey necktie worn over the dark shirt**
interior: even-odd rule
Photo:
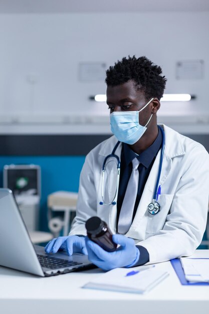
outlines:
[[[137,158],[132,160],[132,173],[128,181],[126,193],[123,199],[123,204],[121,206],[119,220],[118,220],[118,232],[125,234],[128,232],[133,217],[133,210],[136,201],[138,182],[139,182],[139,172],[138,166],[139,161]]]

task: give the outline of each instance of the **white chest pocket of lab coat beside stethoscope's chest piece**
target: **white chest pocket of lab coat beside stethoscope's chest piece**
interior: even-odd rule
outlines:
[[[162,230],[169,212],[174,194],[161,194],[159,199],[160,211],[156,215],[148,213],[147,233],[157,233]]]

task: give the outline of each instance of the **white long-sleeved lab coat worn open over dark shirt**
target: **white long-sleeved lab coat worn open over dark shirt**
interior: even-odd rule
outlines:
[[[153,198],[161,150],[150,171],[132,225],[126,233],[136,244],[147,249],[150,263],[193,253],[205,230],[209,194],[209,156],[205,148],[173,129],[161,126],[165,133],[165,148],[159,181],[162,193],[158,199],[160,212],[150,215],[147,206]],[[116,232],[117,205],[99,204],[102,201],[102,165],[116,142],[116,137],[112,136],[86,156],[80,176],[76,218],[70,235],[86,235],[85,222],[91,216],[99,216],[113,233]],[[121,147],[120,143],[115,152],[119,157]]]

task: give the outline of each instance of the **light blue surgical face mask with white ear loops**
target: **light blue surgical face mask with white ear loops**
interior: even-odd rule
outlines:
[[[111,131],[117,139],[123,143],[134,144],[146,131],[146,126],[151,120],[152,114],[145,126],[139,124],[139,112],[153,100],[152,98],[139,111],[112,112],[110,114]]]

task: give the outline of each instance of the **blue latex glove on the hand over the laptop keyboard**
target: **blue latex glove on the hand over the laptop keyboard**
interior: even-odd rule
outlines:
[[[87,255],[85,237],[67,236],[52,239],[46,246],[46,253],[57,253],[58,250],[67,251],[68,255],[73,253],[82,253]]]

